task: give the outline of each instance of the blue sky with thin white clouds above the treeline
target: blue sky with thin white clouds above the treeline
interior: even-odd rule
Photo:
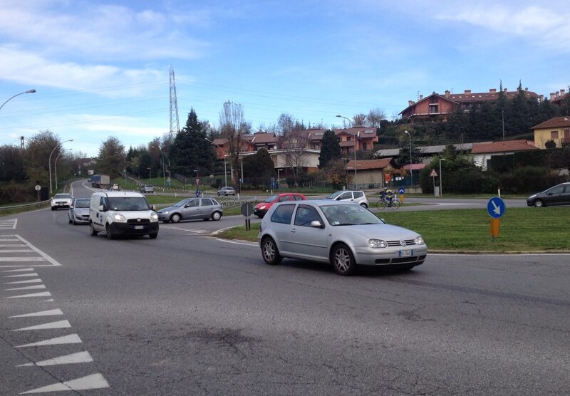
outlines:
[[[570,84],[569,20],[548,0],[0,0],[0,145],[147,145],[170,131],[171,66],[180,127],[191,108],[219,125],[227,100],[258,130],[281,113],[393,120],[418,95],[501,82],[549,96]]]

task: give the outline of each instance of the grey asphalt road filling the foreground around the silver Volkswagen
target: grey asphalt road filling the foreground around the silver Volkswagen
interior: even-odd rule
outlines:
[[[63,210],[0,220],[1,395],[570,393],[569,255],[347,278],[209,236],[239,217],[115,241]]]

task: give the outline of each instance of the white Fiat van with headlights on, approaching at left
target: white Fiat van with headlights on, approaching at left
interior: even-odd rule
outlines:
[[[138,192],[95,192],[89,206],[92,236],[105,232],[108,239],[119,235],[158,235],[158,214]]]

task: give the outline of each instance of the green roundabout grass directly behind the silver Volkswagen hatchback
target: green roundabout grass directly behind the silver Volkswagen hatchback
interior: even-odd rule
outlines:
[[[501,219],[499,236],[491,239],[491,217],[485,209],[450,209],[427,212],[383,212],[389,224],[422,234],[430,251],[469,252],[569,252],[570,209],[507,208]],[[256,241],[258,224],[223,231],[221,238]]]

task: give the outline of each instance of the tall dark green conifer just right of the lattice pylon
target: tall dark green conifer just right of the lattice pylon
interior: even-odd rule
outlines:
[[[211,174],[216,158],[212,144],[206,140],[207,123],[200,123],[193,108],[188,113],[185,127],[177,133],[170,147],[170,162],[175,172],[194,177]]]

